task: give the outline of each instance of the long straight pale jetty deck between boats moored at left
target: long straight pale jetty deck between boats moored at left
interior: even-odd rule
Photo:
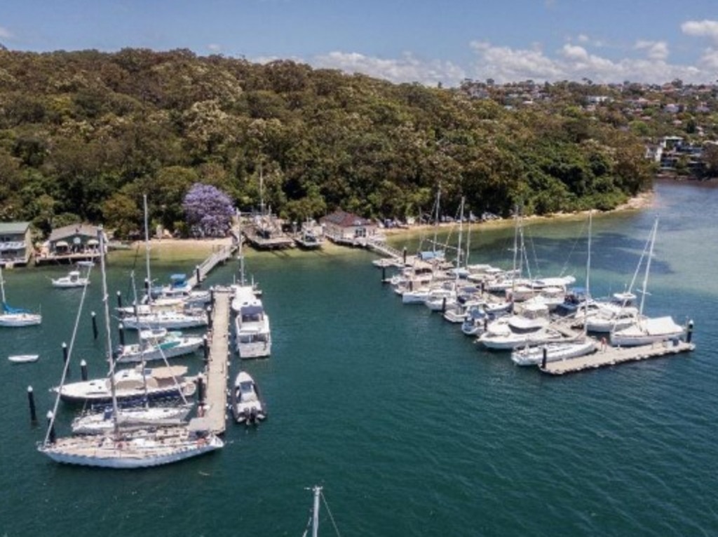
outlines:
[[[202,416],[215,434],[225,432],[227,379],[229,375],[229,313],[233,292],[229,287],[213,289],[212,323],[207,333],[208,353],[205,366],[205,397],[200,401]]]

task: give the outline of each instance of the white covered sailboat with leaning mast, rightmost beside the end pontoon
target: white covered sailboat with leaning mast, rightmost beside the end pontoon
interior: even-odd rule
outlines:
[[[661,341],[678,340],[684,335],[685,328],[670,315],[663,317],[649,318],[643,315],[643,304],[645,295],[648,294],[648,273],[651,270],[651,257],[653,257],[653,244],[656,242],[656,233],[658,232],[658,218],[653,223],[651,237],[649,239],[650,247],[648,250],[648,259],[645,262],[645,273],[643,275],[643,289],[641,290],[640,307],[638,308],[638,318],[627,328],[620,330],[612,330],[610,333],[611,345],[629,347],[639,345],[650,345]]]

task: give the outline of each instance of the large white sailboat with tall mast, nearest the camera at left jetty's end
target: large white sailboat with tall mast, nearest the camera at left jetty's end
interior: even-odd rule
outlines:
[[[101,247],[104,247],[103,234],[98,234]],[[112,341],[110,331],[110,310],[108,305],[105,258],[101,256],[102,292],[105,313],[106,355],[111,361]],[[79,319],[79,315],[78,315]],[[76,323],[77,324],[77,323]],[[74,336],[73,336],[74,342]],[[72,347],[71,347],[72,348]],[[67,375],[67,364],[63,379]],[[113,363],[113,361],[111,361]],[[114,364],[113,364],[114,369]],[[115,396],[114,371],[111,371],[111,393],[113,427],[111,432],[95,436],[57,437],[55,434],[55,416],[59,405],[59,396],[55,400],[54,411],[49,414],[50,423],[45,439],[39,442],[37,450],[55,462],[90,467],[134,469],[154,467],[178,462],[219,450],[224,446],[222,439],[209,430],[202,418],[190,420],[189,424],[171,427],[151,427],[147,429],[126,430],[118,421],[119,407]]]

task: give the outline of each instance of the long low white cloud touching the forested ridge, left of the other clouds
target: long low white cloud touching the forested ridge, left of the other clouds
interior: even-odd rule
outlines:
[[[365,56],[358,52],[330,52],[314,57],[314,67],[340,69],[345,72],[362,72],[391,82],[420,82],[424,85],[457,85],[465,72],[452,62],[419,60],[406,53],[400,58],[383,59]]]

